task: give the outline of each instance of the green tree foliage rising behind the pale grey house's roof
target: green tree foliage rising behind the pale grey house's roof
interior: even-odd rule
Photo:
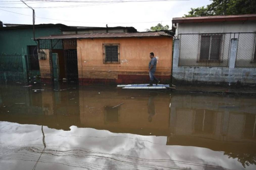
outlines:
[[[255,14],[255,0],[212,0],[206,7],[191,8],[185,17]]]

